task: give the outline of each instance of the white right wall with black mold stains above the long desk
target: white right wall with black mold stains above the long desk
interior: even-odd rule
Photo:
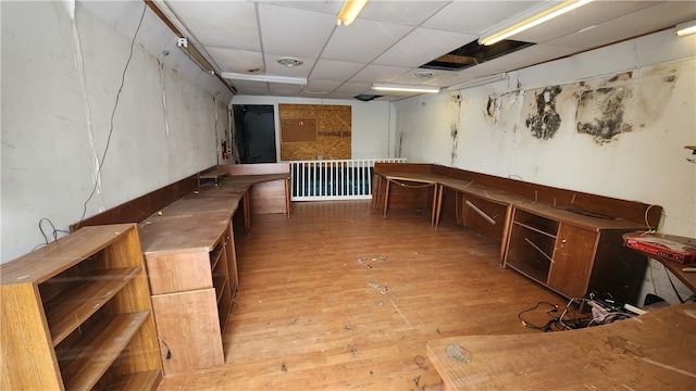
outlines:
[[[696,144],[695,55],[696,36],[662,31],[520,70],[508,80],[396,102],[396,148],[410,162],[659,204],[660,230],[693,238],[696,164],[684,146]],[[537,96],[545,102],[544,88],[554,86],[561,90],[550,99],[560,126],[536,138],[527,119]],[[630,131],[607,140],[577,131],[577,123],[621,112]],[[657,293],[676,302],[663,267],[651,268]],[[652,278],[646,276],[644,293],[652,291]],[[691,294],[672,279],[683,297]]]

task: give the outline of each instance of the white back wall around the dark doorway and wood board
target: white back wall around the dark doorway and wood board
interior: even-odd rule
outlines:
[[[396,122],[389,102],[362,102],[359,100],[306,99],[282,97],[236,96],[231,104],[266,104],[275,108],[275,144],[281,144],[278,104],[331,104],[351,106],[352,159],[394,157]],[[232,109],[232,108],[231,108]],[[276,148],[277,160],[281,149]]]

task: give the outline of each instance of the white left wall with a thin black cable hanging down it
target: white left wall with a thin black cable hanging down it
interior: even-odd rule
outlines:
[[[144,2],[0,7],[2,262],[217,164],[232,93],[149,9],[126,68]]]

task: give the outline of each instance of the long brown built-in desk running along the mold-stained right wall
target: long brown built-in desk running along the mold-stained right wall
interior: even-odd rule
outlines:
[[[434,186],[431,224],[437,227],[443,198],[446,190],[452,190],[457,223],[460,223],[461,207],[464,227],[500,243],[504,267],[514,268],[569,299],[595,291],[611,293],[623,303],[637,304],[647,260],[624,249],[621,235],[646,227],[644,223],[622,215],[638,210],[638,214],[645,215],[650,205],[456,169],[432,168],[422,164],[375,164],[377,192],[373,194],[373,206],[384,195],[386,216],[391,181]],[[386,179],[383,194],[382,178]],[[520,192],[514,192],[518,186]],[[417,200],[422,204],[422,195],[423,192],[408,201]],[[606,204],[597,206],[602,200]]]

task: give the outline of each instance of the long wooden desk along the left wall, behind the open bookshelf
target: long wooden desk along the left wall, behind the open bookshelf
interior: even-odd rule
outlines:
[[[249,231],[251,187],[278,180],[286,182],[289,218],[288,168],[227,173],[217,186],[199,187],[140,222],[165,375],[224,364],[223,335],[239,285],[232,219],[241,203]],[[278,194],[275,203],[282,199]]]

